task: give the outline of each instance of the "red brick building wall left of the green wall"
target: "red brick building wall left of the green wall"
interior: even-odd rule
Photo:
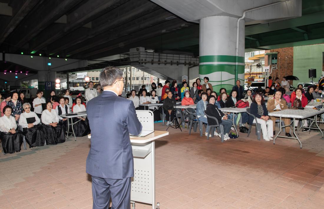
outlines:
[[[278,69],[272,71],[271,73],[272,78],[278,77],[280,79],[279,81],[282,81],[283,76],[293,75],[293,68],[294,68],[294,48],[293,47],[266,50],[265,53],[267,52],[278,52],[277,54]],[[264,65],[268,66],[267,55],[264,56]]]

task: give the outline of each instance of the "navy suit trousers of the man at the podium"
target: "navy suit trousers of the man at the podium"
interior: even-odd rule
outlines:
[[[93,209],[108,209],[110,197],[111,209],[131,208],[131,178],[103,179],[92,176]]]

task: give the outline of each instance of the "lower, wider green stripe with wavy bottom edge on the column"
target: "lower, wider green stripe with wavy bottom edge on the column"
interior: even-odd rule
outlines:
[[[206,75],[213,72],[228,72],[232,75],[235,75],[235,66],[236,65],[227,65],[227,64],[209,64],[209,65],[199,65],[199,74]],[[244,73],[244,65],[237,66],[237,73]]]

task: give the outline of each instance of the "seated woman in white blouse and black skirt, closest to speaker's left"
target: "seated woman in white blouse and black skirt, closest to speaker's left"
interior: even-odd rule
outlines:
[[[82,96],[77,96],[75,98],[75,100],[74,100],[75,105],[73,107],[73,113],[87,111],[86,106],[82,105],[82,102],[83,102],[82,100],[83,100]],[[79,122],[77,122],[77,121],[79,121]],[[89,121],[87,118],[74,117],[73,123],[75,123],[73,126],[73,129],[74,129],[74,133],[75,133],[76,137],[84,137],[90,133]],[[72,130],[71,127],[70,127],[70,130]]]

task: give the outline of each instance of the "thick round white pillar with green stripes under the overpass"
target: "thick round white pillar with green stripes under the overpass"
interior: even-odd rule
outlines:
[[[207,76],[214,91],[231,90],[236,80],[244,83],[244,20],[240,21],[238,56],[236,56],[237,19],[209,16],[200,20],[199,78]],[[229,91],[228,91],[229,92]]]

